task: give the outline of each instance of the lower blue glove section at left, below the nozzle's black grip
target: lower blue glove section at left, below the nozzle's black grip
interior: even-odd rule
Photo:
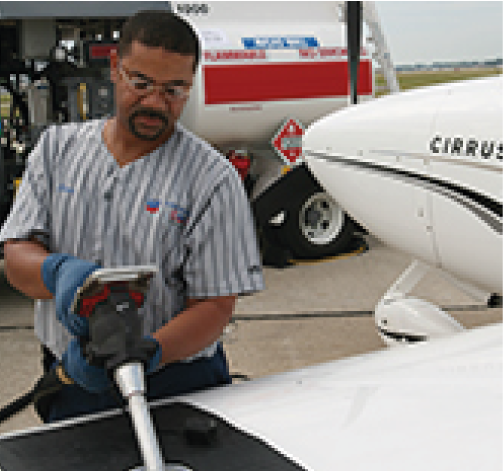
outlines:
[[[87,363],[78,339],[72,339],[68,344],[61,363],[66,374],[86,391],[99,394],[112,386],[104,368]]]

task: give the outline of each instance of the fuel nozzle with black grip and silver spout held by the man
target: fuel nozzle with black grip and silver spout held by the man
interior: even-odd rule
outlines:
[[[155,271],[155,267],[98,270],[78,293],[74,308],[89,319],[87,361],[107,370],[128,403],[145,471],[166,471],[146,401],[144,364],[155,346],[143,338],[138,312]]]

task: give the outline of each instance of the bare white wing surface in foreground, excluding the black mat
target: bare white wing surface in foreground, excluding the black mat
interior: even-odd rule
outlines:
[[[195,396],[313,471],[499,469],[503,326]]]

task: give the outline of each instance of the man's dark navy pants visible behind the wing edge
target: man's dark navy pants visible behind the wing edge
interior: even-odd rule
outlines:
[[[54,355],[43,348],[44,371],[52,367],[55,360]],[[211,358],[172,363],[147,376],[147,399],[152,401],[230,383],[227,358],[224,349],[218,344],[217,351]],[[41,418],[45,423],[50,423],[123,405],[124,401],[117,389],[93,394],[76,384],[65,385],[51,398],[47,411],[41,414]]]

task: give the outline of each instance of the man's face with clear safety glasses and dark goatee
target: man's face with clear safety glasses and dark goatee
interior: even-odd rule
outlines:
[[[137,41],[129,54],[111,63],[116,116],[144,141],[164,141],[173,132],[194,77],[194,57],[152,48]]]

